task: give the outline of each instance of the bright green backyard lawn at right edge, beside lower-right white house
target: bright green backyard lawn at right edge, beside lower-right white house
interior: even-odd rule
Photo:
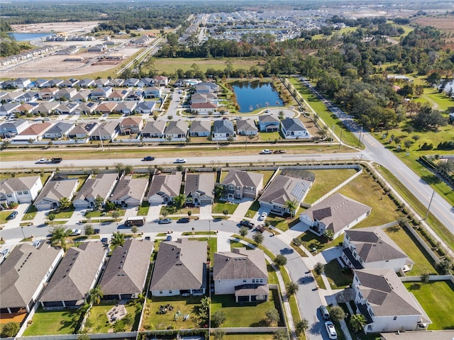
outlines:
[[[421,304],[432,324],[428,329],[454,329],[454,285],[450,281],[436,281],[426,285],[404,283]]]

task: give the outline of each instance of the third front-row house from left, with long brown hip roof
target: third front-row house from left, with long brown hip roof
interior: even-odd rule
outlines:
[[[117,246],[107,263],[101,278],[101,290],[105,300],[133,299],[145,288],[153,242],[126,239]]]

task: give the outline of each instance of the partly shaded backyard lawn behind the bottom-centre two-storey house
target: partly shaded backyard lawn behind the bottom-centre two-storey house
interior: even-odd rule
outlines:
[[[248,302],[239,304],[235,302],[234,295],[213,295],[211,296],[211,314],[217,310],[226,313],[226,322],[222,327],[260,327],[265,319],[265,313],[271,308],[276,308],[274,299],[278,299],[277,290],[270,290],[270,300],[267,302]],[[279,312],[279,314],[281,314]],[[282,314],[281,314],[282,319]],[[282,326],[283,322],[279,322]]]

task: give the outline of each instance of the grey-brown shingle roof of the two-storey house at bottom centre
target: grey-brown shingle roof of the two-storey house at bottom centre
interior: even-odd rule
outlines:
[[[265,254],[261,249],[234,248],[214,254],[214,280],[267,278]]]

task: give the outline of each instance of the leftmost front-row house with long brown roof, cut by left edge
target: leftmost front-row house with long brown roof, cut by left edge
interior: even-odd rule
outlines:
[[[41,242],[14,247],[1,263],[0,313],[30,312],[63,256],[63,249]]]

